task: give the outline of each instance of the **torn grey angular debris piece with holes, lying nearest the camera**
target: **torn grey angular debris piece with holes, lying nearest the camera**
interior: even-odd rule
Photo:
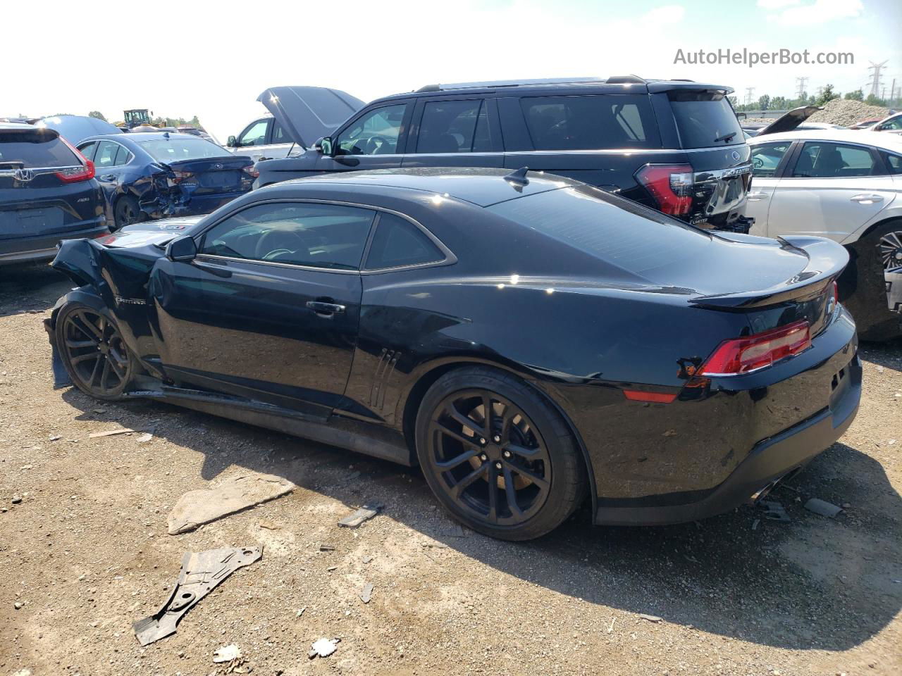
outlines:
[[[175,634],[176,625],[201,598],[239,568],[249,566],[262,556],[259,547],[224,547],[206,552],[188,552],[182,557],[179,580],[160,610],[133,624],[134,635],[142,645],[152,644]]]

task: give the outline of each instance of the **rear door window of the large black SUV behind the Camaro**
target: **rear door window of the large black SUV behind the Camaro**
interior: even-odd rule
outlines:
[[[429,101],[423,106],[417,152],[473,152],[480,115],[487,118],[484,107],[482,99]],[[480,133],[487,132],[488,120],[485,119]],[[484,147],[486,142],[482,145]]]

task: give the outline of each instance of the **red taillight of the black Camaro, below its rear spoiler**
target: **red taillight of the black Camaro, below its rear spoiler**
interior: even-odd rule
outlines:
[[[747,338],[724,341],[698,370],[702,376],[736,376],[764,369],[785,357],[811,347],[805,320],[755,333]]]

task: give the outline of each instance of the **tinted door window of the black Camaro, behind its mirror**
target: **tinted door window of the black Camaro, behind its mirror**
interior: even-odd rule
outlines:
[[[201,253],[324,269],[359,269],[373,212],[298,202],[251,206],[214,225]]]

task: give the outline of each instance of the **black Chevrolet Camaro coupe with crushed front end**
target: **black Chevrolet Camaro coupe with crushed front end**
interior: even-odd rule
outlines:
[[[47,329],[93,397],[419,464],[523,540],[587,498],[599,524],[718,514],[833,443],[861,394],[846,262],[524,170],[366,171],[64,242]]]

